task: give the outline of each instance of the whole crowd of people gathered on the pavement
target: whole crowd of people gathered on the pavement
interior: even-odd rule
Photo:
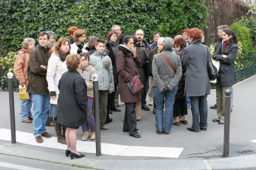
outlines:
[[[82,126],[82,140],[95,139],[93,77],[96,75],[101,130],[108,130],[106,124],[113,121],[109,117],[112,111],[121,111],[117,108],[120,94],[120,101],[125,103],[123,131],[141,138],[137,121],[141,120],[141,110],[150,110],[148,94],[156,114],[157,134],[169,134],[172,125],[187,125],[188,103],[193,115],[188,130],[206,131],[207,95],[211,90],[207,62],[211,53],[202,43],[204,33],[200,29],[184,29],[175,38],[163,38],[156,31],[150,45],[143,40],[143,30],[125,36],[119,25],[113,25],[107,41],[90,36],[85,43],[84,29],[70,27],[68,31],[70,40],[59,38],[57,42],[54,32],[40,32],[36,48],[33,38],[24,39],[15,60],[15,76],[29,93],[28,100],[20,101],[20,117],[26,123],[33,120],[36,142],[42,143],[42,137],[52,137],[45,125],[54,122],[58,142],[67,144],[67,157],[84,157],[76,150],[76,133]],[[216,45],[212,57],[220,61],[216,85],[218,117],[213,120],[219,124],[225,120],[224,92],[234,84],[238,49],[234,31],[221,29],[221,34],[221,43]],[[143,89],[134,94],[127,83],[136,75]]]

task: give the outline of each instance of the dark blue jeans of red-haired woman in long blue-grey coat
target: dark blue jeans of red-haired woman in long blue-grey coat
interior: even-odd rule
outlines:
[[[200,131],[200,128],[207,129],[207,94],[205,96],[190,97],[190,101],[193,116],[192,128],[196,131]]]

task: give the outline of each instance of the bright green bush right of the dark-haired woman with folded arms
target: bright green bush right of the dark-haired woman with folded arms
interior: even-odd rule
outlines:
[[[253,50],[253,40],[250,34],[251,29],[237,22],[230,25],[230,29],[236,33],[237,38],[241,41],[244,56],[248,55],[248,53]]]

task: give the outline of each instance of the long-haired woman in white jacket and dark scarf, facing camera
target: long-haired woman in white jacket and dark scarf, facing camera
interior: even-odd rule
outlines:
[[[60,90],[58,84],[63,73],[68,71],[66,65],[66,57],[70,53],[70,42],[68,39],[59,38],[55,52],[52,53],[47,67],[46,80],[48,83],[49,96],[51,97],[51,108],[49,110],[49,117],[54,118],[54,126],[57,135],[57,141],[61,144],[66,144],[65,131],[66,127],[58,123],[57,119],[57,104]],[[61,132],[62,128],[62,132]]]

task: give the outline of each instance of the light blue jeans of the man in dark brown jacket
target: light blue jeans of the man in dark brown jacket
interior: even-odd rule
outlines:
[[[47,111],[50,109],[50,97],[43,94],[32,94],[34,103],[33,113],[33,128],[34,136],[41,136],[42,133],[46,132],[45,123],[47,120]]]

